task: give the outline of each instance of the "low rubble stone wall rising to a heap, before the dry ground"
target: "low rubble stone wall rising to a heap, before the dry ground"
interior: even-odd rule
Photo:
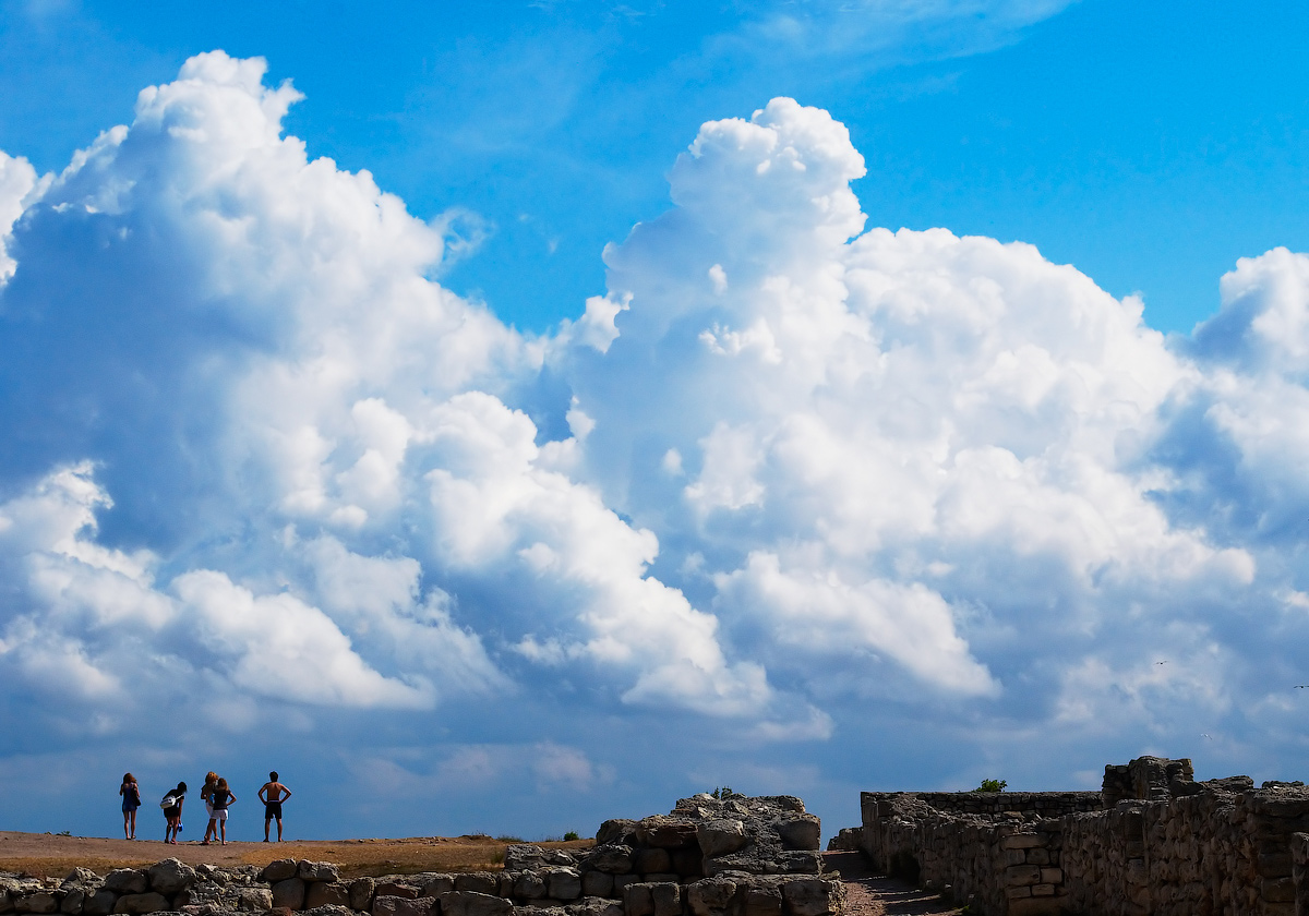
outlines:
[[[0,913],[65,916],[835,916],[821,824],[789,796],[702,794],[668,815],[606,820],[590,849],[516,844],[504,870],[343,879],[279,860],[191,868],[175,858],[64,881],[0,875]]]

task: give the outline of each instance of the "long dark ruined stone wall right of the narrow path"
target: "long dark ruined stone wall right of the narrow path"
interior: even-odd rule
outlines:
[[[1187,759],[1105,767],[1100,792],[864,792],[874,869],[986,916],[1309,916],[1309,789],[1196,783]]]

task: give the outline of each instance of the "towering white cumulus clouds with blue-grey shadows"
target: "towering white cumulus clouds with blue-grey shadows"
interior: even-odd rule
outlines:
[[[0,157],[9,725],[484,704],[542,785],[615,764],[529,703],[704,749],[864,747],[873,703],[1049,729],[1066,769],[1106,722],[1287,752],[1305,255],[1169,340],[1030,245],[865,230],[848,132],[779,98],[704,124],[603,294],[526,336],[263,76],[199,55],[59,175]]]

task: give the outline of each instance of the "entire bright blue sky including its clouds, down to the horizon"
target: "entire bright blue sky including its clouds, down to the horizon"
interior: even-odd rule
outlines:
[[[0,826],[1302,776],[1306,34],[0,4]]]

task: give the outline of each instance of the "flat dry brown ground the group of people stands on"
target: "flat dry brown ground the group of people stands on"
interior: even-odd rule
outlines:
[[[539,845],[576,849],[593,840],[546,841]],[[195,840],[117,840],[54,834],[0,831],[0,872],[63,877],[75,866],[107,873],[177,857],[199,865],[267,865],[275,858],[334,862],[342,875],[359,878],[415,872],[495,872],[504,862],[505,843],[490,836],[414,836],[403,840],[313,840],[202,845]]]

